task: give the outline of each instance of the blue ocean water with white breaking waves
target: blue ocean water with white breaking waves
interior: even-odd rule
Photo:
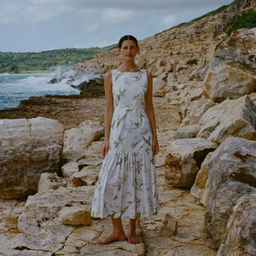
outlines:
[[[79,94],[80,91],[70,84],[78,85],[88,81],[90,77],[73,75],[74,71],[62,73],[61,69],[47,74],[0,74],[0,109],[17,108],[20,101],[30,96]],[[53,78],[60,79],[60,82],[49,84]]]

